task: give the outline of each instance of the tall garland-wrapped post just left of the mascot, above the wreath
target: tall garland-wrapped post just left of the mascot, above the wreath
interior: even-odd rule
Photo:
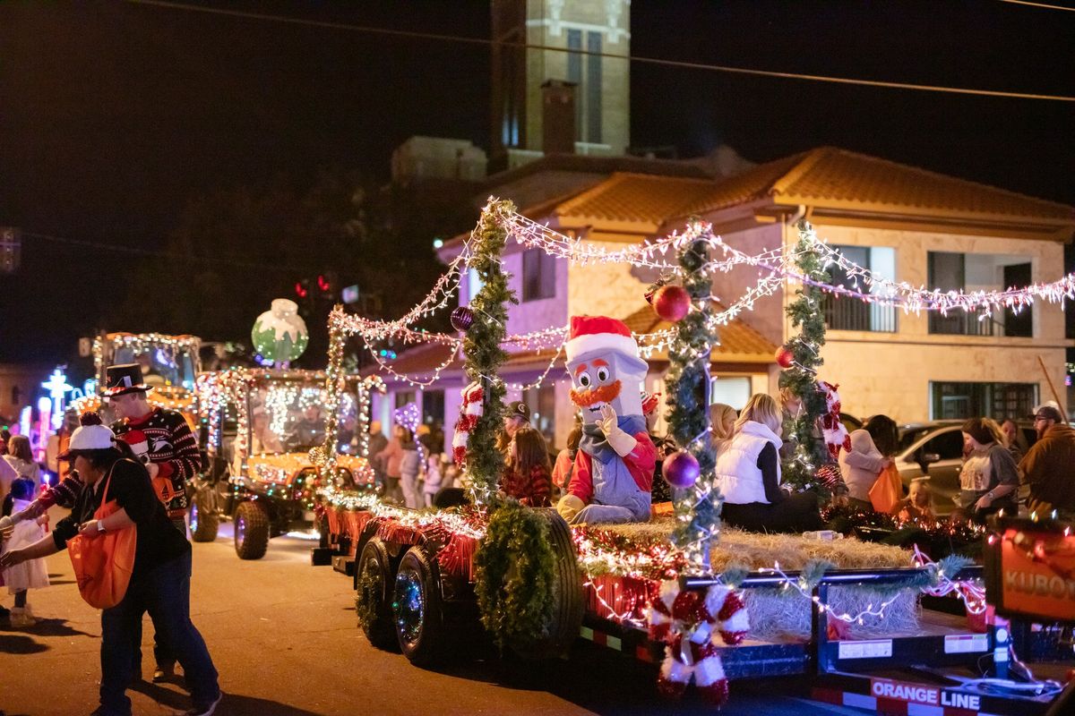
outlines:
[[[507,335],[507,302],[518,304],[507,288],[501,253],[507,242],[507,217],[515,210],[508,201],[490,200],[471,234],[471,267],[482,279],[482,289],[471,298],[474,321],[463,340],[467,377],[481,381],[484,411],[470,434],[467,445],[467,471],[470,473],[475,502],[489,505],[497,497],[497,483],[504,470],[504,456],[497,449],[497,436],[503,425],[504,382],[498,378],[507,359],[501,344]]]

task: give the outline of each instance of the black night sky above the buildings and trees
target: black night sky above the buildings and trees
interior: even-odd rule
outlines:
[[[204,4],[489,32],[488,2]],[[1070,12],[994,0],[634,0],[631,18],[641,57],[1075,94]],[[1075,204],[1075,103],[641,63],[631,93],[635,145],[693,156],[725,143],[758,162],[835,145]],[[487,147],[488,96],[481,45],[124,2],[0,2],[0,225],[160,249],[188,199],[216,187],[325,164],[386,176],[391,149],[413,134]],[[23,271],[0,276],[0,362],[62,360],[100,325],[134,260],[25,239]]]

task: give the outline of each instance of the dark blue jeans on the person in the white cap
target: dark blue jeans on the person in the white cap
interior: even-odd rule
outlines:
[[[213,703],[220,692],[216,668],[190,622],[190,553],[131,579],[124,600],[101,612],[101,705],[109,714],[131,713],[127,687],[131,653],[141,647],[142,615],[149,612],[158,631],[183,666],[195,705]]]

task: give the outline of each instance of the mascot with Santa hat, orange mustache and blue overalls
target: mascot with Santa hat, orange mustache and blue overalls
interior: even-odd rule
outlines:
[[[574,316],[565,354],[583,439],[557,511],[570,524],[645,522],[657,449],[642,413],[639,345],[622,321]]]

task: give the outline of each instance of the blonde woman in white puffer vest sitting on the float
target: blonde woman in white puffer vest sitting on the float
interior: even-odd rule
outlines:
[[[817,493],[780,489],[780,409],[755,393],[735,421],[732,439],[717,455],[716,476],[725,497],[721,516],[733,527],[801,532],[823,527]]]

